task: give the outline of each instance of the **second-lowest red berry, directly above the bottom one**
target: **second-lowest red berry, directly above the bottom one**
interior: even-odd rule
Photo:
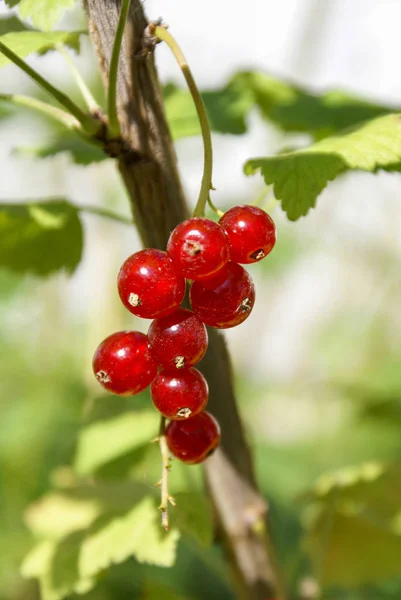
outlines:
[[[197,369],[160,371],[150,388],[153,404],[168,419],[194,417],[207,404],[209,388]]]

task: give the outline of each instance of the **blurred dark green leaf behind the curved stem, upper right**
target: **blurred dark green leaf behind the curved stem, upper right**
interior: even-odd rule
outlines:
[[[282,131],[306,132],[314,139],[394,110],[341,90],[311,93],[261,71],[239,72],[222,88],[202,91],[202,97],[212,130],[237,135],[247,131],[246,120],[253,109]],[[189,92],[168,84],[164,99],[174,139],[199,135]]]

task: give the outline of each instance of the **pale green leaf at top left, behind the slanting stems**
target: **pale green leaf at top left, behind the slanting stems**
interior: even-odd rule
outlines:
[[[73,50],[79,51],[80,36],[84,31],[17,31],[6,33],[0,36],[3,42],[20,58],[25,58],[30,54],[44,54],[49,50],[54,50],[57,44],[64,44]],[[9,59],[0,53],[0,67],[9,63]]]

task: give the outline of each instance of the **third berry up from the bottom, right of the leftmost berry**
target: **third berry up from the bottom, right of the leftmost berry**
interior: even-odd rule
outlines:
[[[186,308],[152,321],[148,338],[150,349],[163,369],[183,369],[196,365],[207,349],[206,327]]]

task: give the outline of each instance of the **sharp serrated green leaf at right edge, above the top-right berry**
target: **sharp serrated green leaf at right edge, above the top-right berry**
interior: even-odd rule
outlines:
[[[306,215],[329,181],[350,170],[376,172],[400,168],[401,116],[391,114],[369,121],[352,131],[326,138],[308,148],[244,166],[246,175],[260,171],[281,200],[290,220]]]

